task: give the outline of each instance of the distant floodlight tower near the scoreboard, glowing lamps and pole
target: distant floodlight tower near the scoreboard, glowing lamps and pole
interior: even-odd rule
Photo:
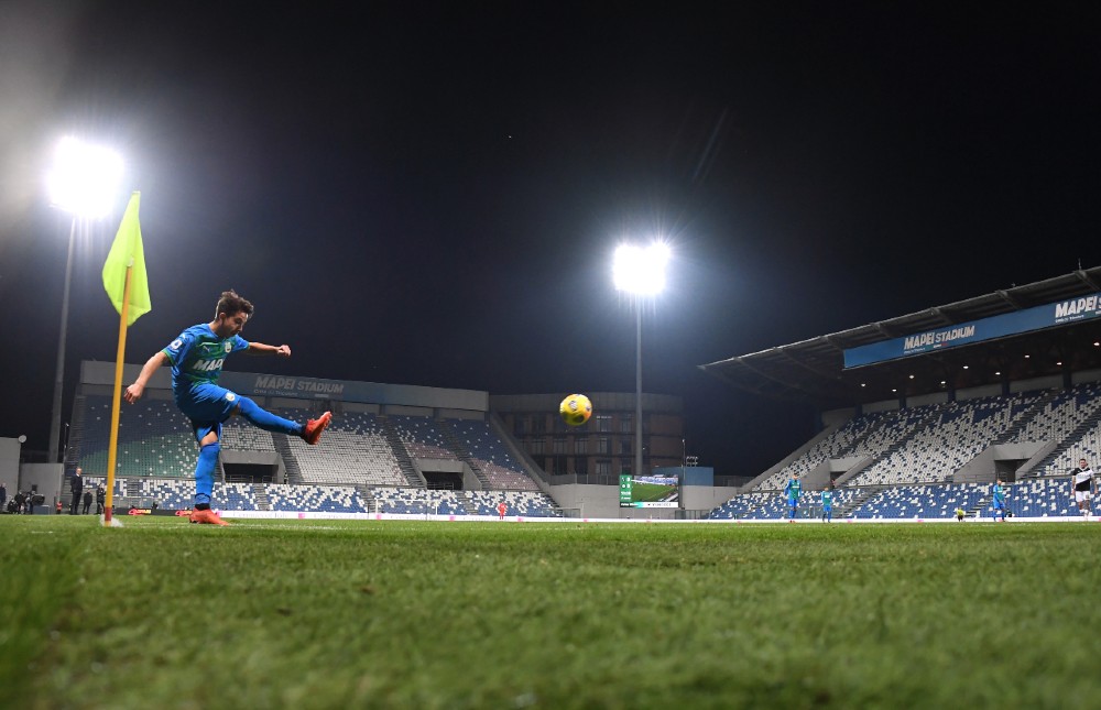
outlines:
[[[665,288],[665,265],[669,248],[661,241],[648,245],[621,244],[612,262],[615,290],[634,298],[635,370],[634,370],[634,476],[642,476],[642,301],[656,296]]]

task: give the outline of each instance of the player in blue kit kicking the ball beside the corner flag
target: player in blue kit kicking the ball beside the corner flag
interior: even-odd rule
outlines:
[[[235,292],[224,292],[218,299],[214,320],[187,328],[168,347],[153,354],[123,394],[126,401],[133,404],[141,398],[149,379],[157,368],[172,364],[173,398],[179,411],[192,420],[192,430],[199,445],[199,460],[195,466],[195,506],[189,517],[193,523],[229,525],[210,510],[214,473],[221,450],[222,422],[239,414],[266,432],[297,436],[307,444],[317,444],[321,432],[333,419],[333,415],[326,412],[305,424],[291,422],[262,409],[249,397],[218,386],[221,365],[230,353],[291,357],[290,346],[249,342],[241,337],[241,330],[252,317],[253,310],[252,304]]]

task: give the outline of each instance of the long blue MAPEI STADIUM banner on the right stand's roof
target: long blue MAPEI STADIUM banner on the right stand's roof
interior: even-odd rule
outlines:
[[[946,326],[859,348],[849,348],[844,351],[844,367],[846,369],[859,368],[942,348],[955,348],[1032,330],[1043,330],[1098,316],[1101,316],[1101,293],[1025,308],[1001,316],[991,316],[981,320]]]

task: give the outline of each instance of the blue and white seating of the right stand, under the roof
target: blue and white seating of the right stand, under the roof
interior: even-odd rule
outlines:
[[[832,458],[874,461],[836,489],[835,511],[855,520],[990,516],[990,482],[952,482],[994,444],[1042,443],[1054,450],[1026,478],[1009,482],[1011,515],[1077,516],[1068,473],[1081,458],[1101,461],[1101,383],[925,405],[858,416],[836,427],[751,490],[711,510],[711,520],[787,516],[781,489]],[[992,478],[992,474],[991,474]],[[799,509],[811,515],[818,491],[804,491]],[[836,515],[837,516],[837,515]]]

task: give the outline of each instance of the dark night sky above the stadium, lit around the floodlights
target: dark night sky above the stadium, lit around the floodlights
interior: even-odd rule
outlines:
[[[0,6],[0,436],[46,448],[66,133],[128,174],[77,247],[65,420],[78,362],[115,358],[129,189],[133,363],[232,287],[294,356],[227,370],[630,392],[611,254],[667,240],[643,389],[729,474],[813,412],[696,365],[1101,263],[1101,4],[728,4]]]

